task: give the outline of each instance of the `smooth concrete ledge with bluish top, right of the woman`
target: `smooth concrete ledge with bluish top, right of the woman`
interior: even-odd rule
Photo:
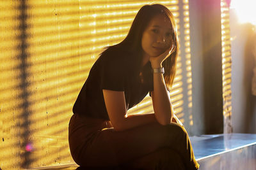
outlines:
[[[200,170],[256,169],[256,134],[192,137]]]

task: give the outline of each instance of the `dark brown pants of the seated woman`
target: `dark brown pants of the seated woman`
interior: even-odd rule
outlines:
[[[70,152],[86,167],[198,169],[188,134],[179,124],[151,123],[117,132],[103,120],[73,115]]]

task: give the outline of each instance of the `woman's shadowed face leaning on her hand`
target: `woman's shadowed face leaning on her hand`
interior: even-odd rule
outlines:
[[[172,24],[164,15],[157,15],[142,34],[143,56],[157,57],[173,44]]]

